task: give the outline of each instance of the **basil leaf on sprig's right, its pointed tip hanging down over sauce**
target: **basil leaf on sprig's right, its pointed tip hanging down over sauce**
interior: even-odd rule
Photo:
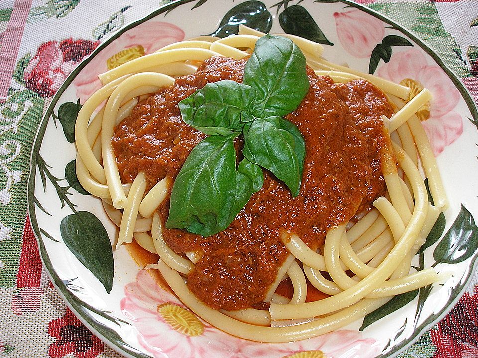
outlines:
[[[242,153],[252,163],[274,173],[289,187],[292,195],[297,196],[302,179],[305,144],[300,133],[299,139],[295,131],[289,132],[291,127],[283,121],[285,120],[280,117],[271,117],[268,120],[256,118],[247,123],[244,126],[245,141]]]

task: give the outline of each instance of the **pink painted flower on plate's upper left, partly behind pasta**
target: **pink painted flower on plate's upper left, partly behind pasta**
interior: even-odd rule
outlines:
[[[150,20],[137,25],[111,42],[81,70],[73,81],[76,95],[80,98],[80,102],[84,103],[100,89],[98,75],[109,70],[107,61],[112,56],[120,55],[120,51],[130,49],[137,54],[135,57],[138,57],[182,40],[184,40],[183,30],[173,24]]]

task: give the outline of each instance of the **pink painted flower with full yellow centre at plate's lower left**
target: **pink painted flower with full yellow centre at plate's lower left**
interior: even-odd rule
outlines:
[[[138,341],[153,357],[232,357],[240,340],[199,319],[164,290],[153,275],[140,271],[126,285],[120,302],[125,316],[134,320]]]

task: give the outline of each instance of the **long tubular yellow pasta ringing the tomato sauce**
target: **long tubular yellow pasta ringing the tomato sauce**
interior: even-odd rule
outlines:
[[[443,280],[433,268],[409,272],[412,257],[448,203],[428,139],[415,115],[430,100],[430,92],[423,89],[406,102],[409,88],[327,62],[321,58],[321,45],[283,35],[302,50],[316,75],[329,76],[335,83],[366,79],[393,103],[395,114],[384,117],[384,124],[390,132],[398,133],[394,137],[398,142],[391,142],[380,155],[386,194],[365,214],[357,213],[353,221],[329,229],[321,247],[309,247],[295,233],[281,233],[288,254],[264,296],[268,310],[215,310],[199,300],[188,289],[184,276],[194,270],[201,255],[195,251],[179,255],[169,247],[157,212],[167,198],[171,178],[157,178],[148,188],[147,174],[139,172],[132,183],[122,183],[111,140],[115,126],[131,114],[138,101],[171,86],[177,76],[193,74],[212,56],[247,57],[262,35],[241,25],[239,35],[175,43],[101,74],[103,87],[78,114],[76,170],[81,185],[104,201],[108,216],[119,226],[116,248],[134,239],[157,253],[159,262],[146,269],[159,270],[198,316],[244,339],[287,342],[332,331],[377,309],[394,295]],[[428,202],[420,166],[435,205]],[[285,278],[293,286],[290,299],[275,293]],[[307,302],[307,281],[328,297]]]

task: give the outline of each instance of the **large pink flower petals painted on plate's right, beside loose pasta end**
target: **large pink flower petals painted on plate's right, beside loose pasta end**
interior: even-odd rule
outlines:
[[[447,74],[438,65],[429,65],[419,50],[395,53],[389,63],[382,64],[377,75],[396,83],[411,79],[412,83],[418,82],[430,90],[430,116],[428,119],[422,118],[422,124],[435,155],[462,134],[462,118],[454,111],[460,93]]]

